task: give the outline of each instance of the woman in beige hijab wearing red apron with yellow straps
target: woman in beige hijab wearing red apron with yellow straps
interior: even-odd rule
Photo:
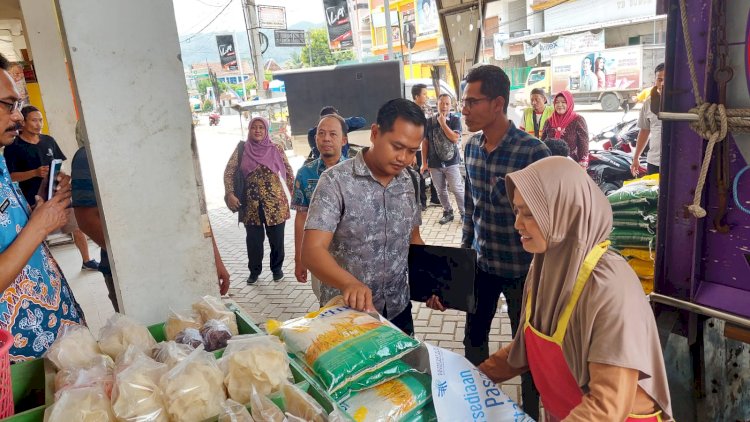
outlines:
[[[671,420],[656,322],[638,277],[608,249],[604,194],[563,157],[505,180],[534,258],[524,328],[479,369],[495,382],[531,371],[550,421]]]

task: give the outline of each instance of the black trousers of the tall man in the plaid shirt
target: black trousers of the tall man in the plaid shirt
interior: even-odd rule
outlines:
[[[503,278],[494,274],[478,270],[475,280],[475,295],[477,310],[473,314],[466,314],[466,328],[464,329],[464,355],[474,365],[479,365],[489,357],[489,338],[492,319],[497,312],[500,294],[505,295],[508,303],[508,317],[513,336],[516,335],[523,307],[523,285],[526,276],[519,278]],[[534,387],[531,373],[521,375],[521,397],[523,410],[534,420],[539,419],[539,392]]]

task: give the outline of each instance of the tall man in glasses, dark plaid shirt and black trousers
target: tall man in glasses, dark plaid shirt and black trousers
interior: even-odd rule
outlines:
[[[497,66],[473,68],[466,77],[462,110],[466,126],[479,132],[464,148],[465,201],[461,246],[478,256],[475,280],[477,309],[466,314],[466,358],[479,365],[489,357],[489,334],[500,294],[508,304],[512,334],[518,329],[523,284],[532,255],[523,250],[513,225],[515,215],[506,196],[505,175],[549,157],[547,146],[508,120],[510,79]],[[443,310],[433,296],[427,306]],[[531,377],[522,378],[524,411],[539,418],[539,396]]]

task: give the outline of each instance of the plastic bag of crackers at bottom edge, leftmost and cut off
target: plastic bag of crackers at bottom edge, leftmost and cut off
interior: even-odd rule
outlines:
[[[44,411],[44,422],[114,420],[109,397],[100,385],[65,390],[60,399]]]

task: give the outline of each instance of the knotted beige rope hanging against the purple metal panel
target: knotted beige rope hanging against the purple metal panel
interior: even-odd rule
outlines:
[[[693,96],[695,97],[696,107],[690,109],[688,113],[698,116],[698,121],[690,124],[693,129],[703,139],[708,140],[706,152],[703,155],[701,172],[698,176],[698,183],[693,196],[693,203],[688,206],[688,211],[696,218],[706,216],[706,210],[701,207],[701,197],[703,196],[703,187],[706,184],[708,167],[711,164],[714,146],[727,137],[727,132],[750,133],[750,109],[730,109],[727,110],[723,104],[706,103],[700,95],[698,86],[698,76],[695,71],[695,60],[693,58],[693,44],[690,42],[690,33],[688,32],[688,15],[685,0],[680,0],[680,14],[682,22],[682,36],[685,41],[685,53],[688,59],[688,69],[690,70],[690,82],[693,85]],[[744,170],[743,170],[744,171]],[[735,186],[736,186],[735,179]]]

